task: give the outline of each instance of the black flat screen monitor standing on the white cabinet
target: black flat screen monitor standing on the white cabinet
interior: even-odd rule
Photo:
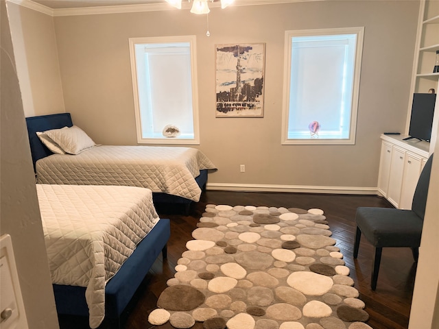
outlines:
[[[405,140],[416,138],[420,141],[430,141],[435,103],[436,94],[413,95],[409,137],[404,138]]]

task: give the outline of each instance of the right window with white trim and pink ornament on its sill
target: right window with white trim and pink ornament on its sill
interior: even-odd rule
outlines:
[[[363,34],[285,32],[283,144],[355,144]]]

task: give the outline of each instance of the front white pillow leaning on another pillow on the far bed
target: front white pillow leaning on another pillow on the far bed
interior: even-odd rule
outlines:
[[[95,147],[93,140],[80,127],[73,125],[67,129],[46,130],[45,134],[57,143],[68,154],[80,154],[86,149]]]

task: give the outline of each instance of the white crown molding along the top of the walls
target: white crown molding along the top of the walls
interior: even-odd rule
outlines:
[[[163,10],[178,10],[172,8],[168,3],[146,3],[143,5],[108,5],[98,7],[84,7],[84,8],[57,8],[52,9],[45,5],[40,5],[32,0],[6,0],[7,2],[22,5],[25,8],[36,10],[50,16],[80,16],[80,15],[94,15],[94,14],[119,14],[126,12],[156,12]],[[294,3],[294,2],[309,2],[322,0],[236,0],[233,6],[241,5],[272,5],[278,3]],[[209,7],[220,7],[219,2],[210,3]],[[191,3],[185,1],[182,3],[182,9],[190,9]]]

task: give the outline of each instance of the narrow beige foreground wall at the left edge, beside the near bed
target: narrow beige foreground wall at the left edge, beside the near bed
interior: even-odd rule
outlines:
[[[0,1],[0,11],[0,234],[10,234],[12,238],[29,328],[56,329],[58,317],[4,0]]]

